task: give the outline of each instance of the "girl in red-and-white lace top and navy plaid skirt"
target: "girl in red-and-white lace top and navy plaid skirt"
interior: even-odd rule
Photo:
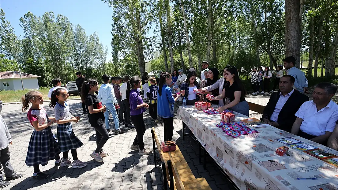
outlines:
[[[54,117],[48,117],[43,108],[42,94],[38,91],[29,91],[21,97],[22,112],[26,111],[29,103],[32,104],[27,113],[30,124],[34,127],[28,144],[28,151],[25,163],[34,167],[34,179],[46,179],[47,174],[40,171],[40,164],[45,166],[49,160],[55,159],[55,164],[61,162],[61,153],[57,140],[50,128],[55,123]],[[51,120],[51,121],[50,121]]]

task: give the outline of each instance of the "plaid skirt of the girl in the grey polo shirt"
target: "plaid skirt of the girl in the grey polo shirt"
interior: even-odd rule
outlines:
[[[57,124],[57,140],[61,152],[76,149],[83,145],[80,139],[75,136],[72,124],[70,122],[65,124]]]

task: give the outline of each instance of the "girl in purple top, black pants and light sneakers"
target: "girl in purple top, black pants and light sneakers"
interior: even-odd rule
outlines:
[[[144,107],[149,108],[149,105],[143,102],[138,88],[141,88],[140,77],[131,77],[127,82],[127,100],[130,104],[130,118],[136,129],[136,137],[130,149],[139,151],[139,155],[149,155],[152,151],[146,150],[143,143],[143,135],[146,132],[143,113],[146,111]]]

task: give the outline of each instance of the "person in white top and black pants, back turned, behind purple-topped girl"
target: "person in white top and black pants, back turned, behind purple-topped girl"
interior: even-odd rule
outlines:
[[[127,83],[129,81],[129,77],[123,76],[122,80],[123,80],[123,83],[120,87],[120,93],[121,93],[120,107],[122,107],[123,109],[125,127],[133,128],[131,121],[130,121],[130,104],[129,104],[129,100],[127,100]]]

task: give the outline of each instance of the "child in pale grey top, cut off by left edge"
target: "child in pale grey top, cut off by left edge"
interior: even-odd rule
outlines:
[[[2,110],[2,101],[0,100],[0,113]],[[9,134],[5,120],[0,115],[0,188],[6,187],[9,185],[9,182],[5,181],[3,178],[3,173],[6,175],[6,180],[15,180],[22,177],[22,174],[14,171],[13,167],[10,165],[10,153],[8,145],[12,145],[12,138]],[[2,171],[3,168],[3,171]]]

